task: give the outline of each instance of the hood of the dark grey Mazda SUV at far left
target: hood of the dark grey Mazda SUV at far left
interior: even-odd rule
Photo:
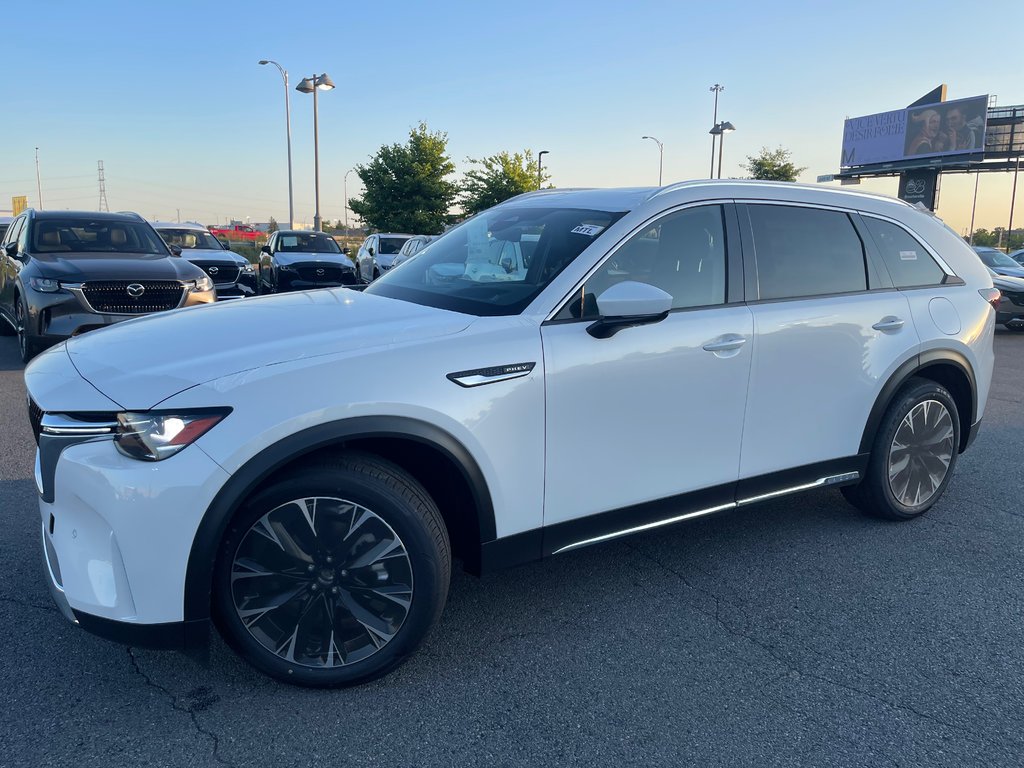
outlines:
[[[90,280],[197,280],[203,270],[186,259],[156,253],[32,254],[41,278],[65,283]]]

